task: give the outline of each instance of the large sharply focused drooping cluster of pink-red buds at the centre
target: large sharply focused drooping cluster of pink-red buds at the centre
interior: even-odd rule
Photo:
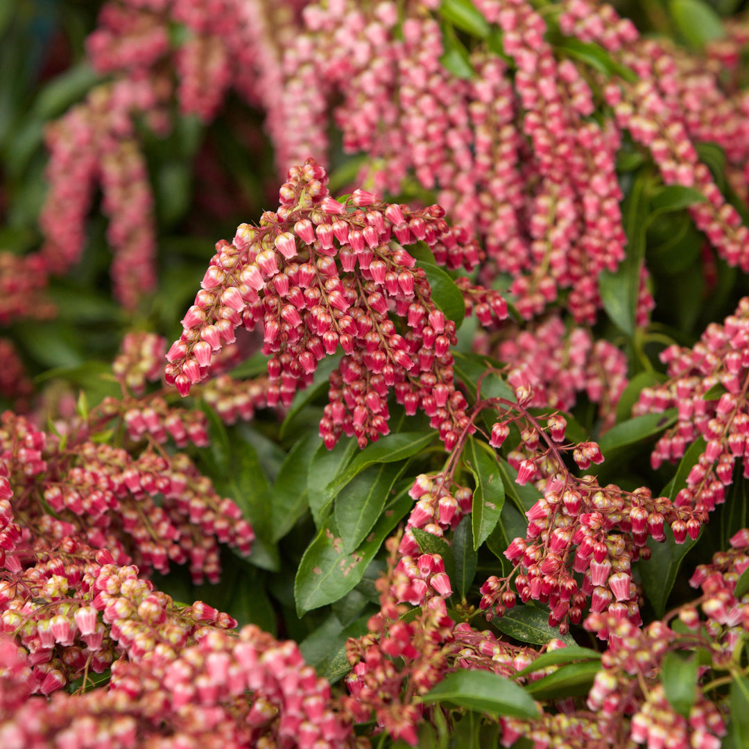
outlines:
[[[361,189],[336,201],[312,160],[288,176],[279,210],[216,245],[181,338],[167,353],[166,381],[187,395],[209,376],[212,357],[234,342],[237,327],[261,323],[270,406],[291,404],[318,361],[340,346],[344,357],[330,376],[320,425],[329,448],[341,434],[361,446],[387,434],[393,389],[406,413],[422,408],[452,449],[467,425],[449,352],[455,324],[434,305],[425,271],[404,249],[423,240],[458,252],[444,211],[410,211]]]

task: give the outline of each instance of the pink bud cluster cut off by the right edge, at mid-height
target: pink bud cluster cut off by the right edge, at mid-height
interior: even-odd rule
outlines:
[[[749,297],[724,324],[710,324],[693,348],[672,345],[661,352],[670,379],[643,389],[633,413],[662,413],[676,407],[678,421],[658,440],[651,455],[654,468],[679,461],[695,440],[706,441],[687,485],[676,496],[677,507],[704,522],[725,501],[736,461],[749,476]]]

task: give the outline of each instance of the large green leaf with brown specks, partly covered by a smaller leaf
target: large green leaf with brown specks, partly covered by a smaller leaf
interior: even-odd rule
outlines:
[[[297,570],[294,580],[297,616],[338,601],[356,587],[386,536],[412,505],[413,500],[404,489],[386,506],[372,538],[352,554],[344,553],[336,522],[329,518],[304,552]]]

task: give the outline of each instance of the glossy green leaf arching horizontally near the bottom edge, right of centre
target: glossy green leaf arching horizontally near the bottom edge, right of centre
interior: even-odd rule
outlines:
[[[539,714],[529,694],[520,686],[491,671],[454,671],[428,691],[425,703],[449,702],[495,718],[536,718]]]

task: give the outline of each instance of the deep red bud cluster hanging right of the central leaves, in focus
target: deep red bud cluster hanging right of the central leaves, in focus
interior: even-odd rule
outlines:
[[[520,415],[508,416],[512,407]],[[679,543],[687,535],[696,538],[700,524],[666,497],[652,497],[647,488],[627,492],[613,484],[602,487],[595,476],[575,478],[565,467],[563,453],[571,452],[577,466],[586,470],[603,461],[596,443],[562,445],[566,424],[559,414],[547,417],[544,428],[536,417],[521,413],[518,404],[506,401],[504,408],[490,444],[499,448],[509,435],[509,423],[524,419],[525,427],[518,427],[523,451],[510,452],[508,462],[518,471],[518,484],[536,482],[543,497],[526,512],[525,538],[514,539],[505,552],[515,571],[486,580],[481,608],[488,619],[502,616],[515,605],[517,592],[524,602],[548,604],[549,623],[562,632],[570,622],[582,621],[588,601],[594,613],[608,611],[640,625],[640,594],[631,563],[649,557],[649,536],[664,540],[664,523],[670,523]],[[539,447],[542,439],[546,444]],[[576,573],[582,575],[580,583]]]

